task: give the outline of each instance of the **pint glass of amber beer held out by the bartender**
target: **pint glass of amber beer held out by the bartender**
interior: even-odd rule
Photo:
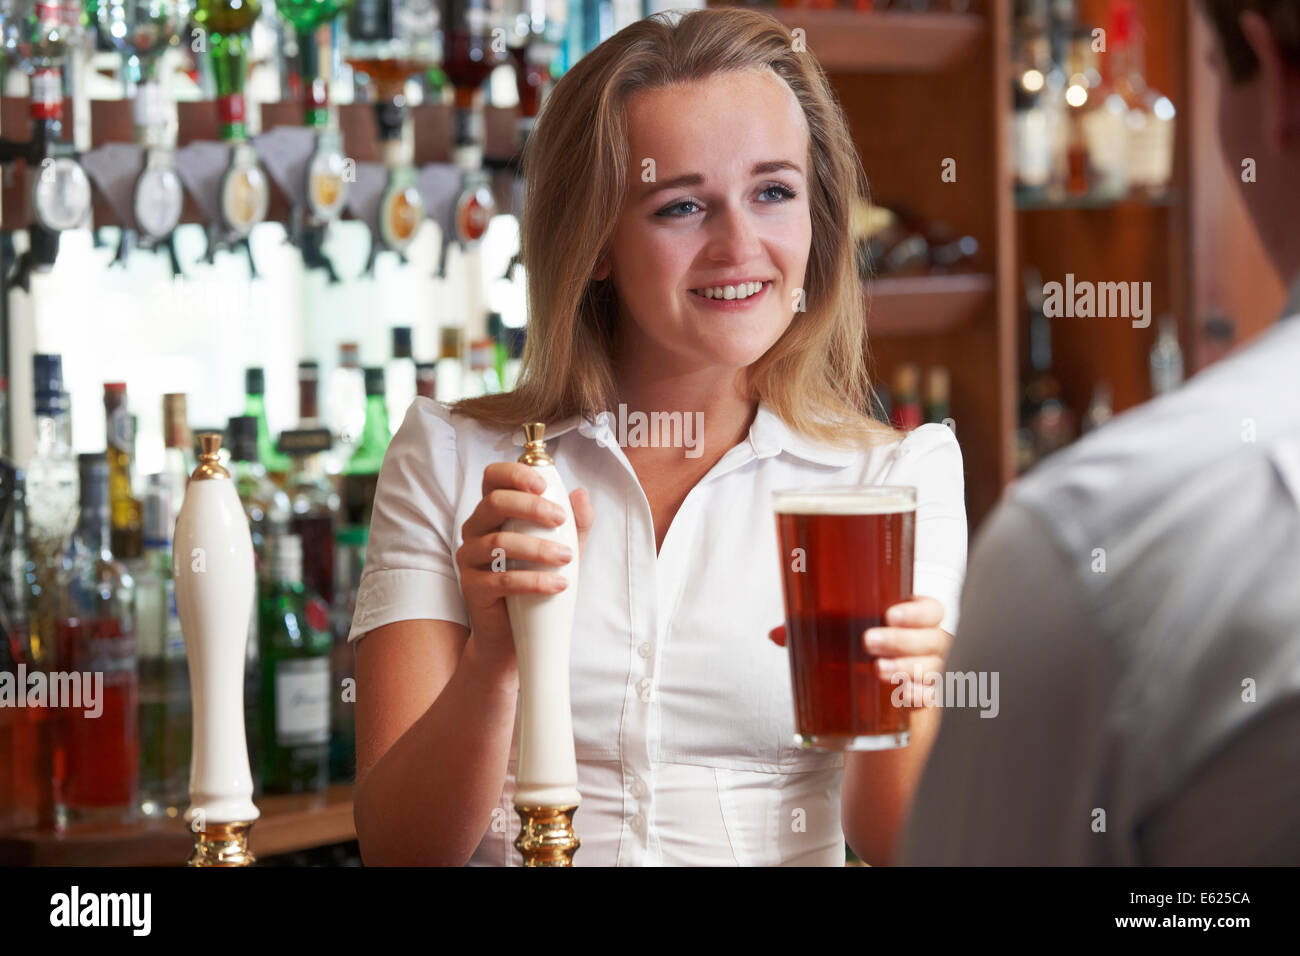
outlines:
[[[906,747],[907,710],[876,674],[863,633],[911,597],[914,488],[776,492],[786,646],[800,745],[818,750]]]

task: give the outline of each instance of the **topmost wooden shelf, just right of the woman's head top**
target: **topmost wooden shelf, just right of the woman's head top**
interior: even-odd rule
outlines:
[[[802,29],[809,52],[827,73],[940,73],[970,56],[987,31],[975,13],[763,12],[790,30]]]

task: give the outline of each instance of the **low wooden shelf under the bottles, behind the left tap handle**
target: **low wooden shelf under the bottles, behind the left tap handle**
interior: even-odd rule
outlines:
[[[260,858],[356,839],[350,783],[335,783],[325,793],[260,797],[257,809],[261,817],[248,842]],[[179,819],[21,830],[0,835],[0,865],[179,866],[192,847]]]

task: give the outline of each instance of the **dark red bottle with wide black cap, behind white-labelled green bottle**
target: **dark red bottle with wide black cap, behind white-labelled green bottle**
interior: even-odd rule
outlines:
[[[303,542],[303,585],[307,593],[334,600],[334,527],[339,497],[325,473],[322,455],[329,451],[325,428],[294,429],[280,436],[280,447],[292,466],[289,470],[289,532]]]

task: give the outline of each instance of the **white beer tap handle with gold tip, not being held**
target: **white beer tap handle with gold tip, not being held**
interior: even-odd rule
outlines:
[[[191,866],[247,866],[257,819],[244,736],[243,687],[254,557],[248,519],[217,453],[221,434],[199,436],[203,454],[176,519],[173,574],[194,698]]]

